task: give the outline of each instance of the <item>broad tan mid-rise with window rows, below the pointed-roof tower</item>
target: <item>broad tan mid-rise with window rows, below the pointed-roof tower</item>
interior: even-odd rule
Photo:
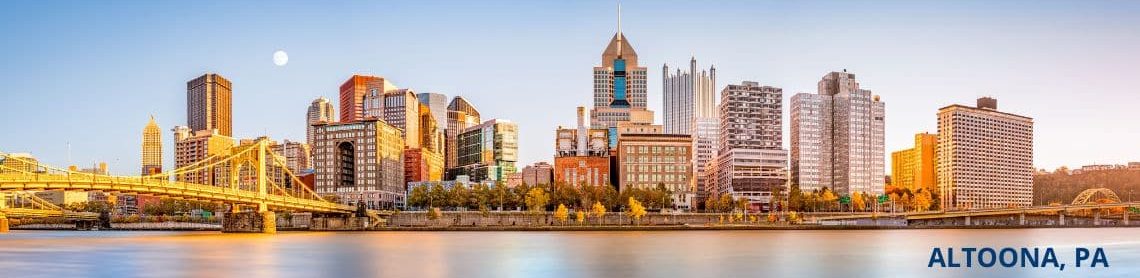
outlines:
[[[618,185],[673,191],[674,206],[692,208],[692,137],[685,134],[622,133],[618,137]]]

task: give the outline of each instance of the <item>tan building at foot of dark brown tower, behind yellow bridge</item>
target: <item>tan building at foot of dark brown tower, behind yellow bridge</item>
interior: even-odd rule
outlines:
[[[190,132],[187,126],[174,128],[174,169],[182,169],[211,155],[227,154],[234,138],[218,133],[218,130]],[[228,185],[226,166],[206,167],[179,174],[178,181],[198,185]]]

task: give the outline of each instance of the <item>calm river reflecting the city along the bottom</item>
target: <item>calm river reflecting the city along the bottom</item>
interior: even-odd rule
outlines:
[[[1069,265],[927,268],[934,247],[963,246],[1053,247]],[[1075,247],[1104,247],[1110,267],[1074,268]],[[0,277],[1135,277],[1138,263],[1140,228],[0,235]]]

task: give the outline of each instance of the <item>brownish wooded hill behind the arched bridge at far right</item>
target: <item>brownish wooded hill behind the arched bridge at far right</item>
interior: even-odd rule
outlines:
[[[1085,171],[1078,174],[1054,171],[1035,174],[1033,175],[1033,204],[1048,205],[1053,202],[1068,204],[1084,189],[1098,187],[1113,190],[1124,202],[1129,201],[1129,190],[1132,190],[1132,199],[1140,201],[1140,171],[1104,170]]]

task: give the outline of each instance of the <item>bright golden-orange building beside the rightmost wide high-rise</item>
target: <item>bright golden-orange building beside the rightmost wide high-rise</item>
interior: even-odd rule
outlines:
[[[938,190],[935,171],[938,134],[914,134],[914,147],[890,153],[891,186],[907,188],[911,191],[925,189],[929,193]]]

